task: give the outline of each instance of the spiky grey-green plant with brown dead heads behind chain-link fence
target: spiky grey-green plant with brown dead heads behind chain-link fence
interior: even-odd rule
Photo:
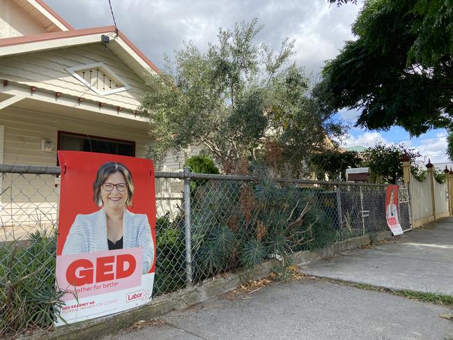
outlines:
[[[331,242],[335,229],[318,206],[311,190],[271,178],[206,183],[192,210],[196,281]]]

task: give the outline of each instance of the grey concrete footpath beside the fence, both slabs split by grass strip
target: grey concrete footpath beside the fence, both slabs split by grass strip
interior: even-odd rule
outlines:
[[[453,219],[305,265],[310,275],[388,288],[453,291]],[[453,310],[390,293],[301,279],[215,297],[107,339],[453,340]]]

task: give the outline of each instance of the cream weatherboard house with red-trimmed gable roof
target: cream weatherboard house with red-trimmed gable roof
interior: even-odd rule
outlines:
[[[55,166],[57,150],[144,157],[153,137],[139,99],[155,72],[115,26],[75,29],[43,0],[0,0],[0,163]],[[35,177],[39,190],[0,178],[1,225],[55,217],[56,179]]]

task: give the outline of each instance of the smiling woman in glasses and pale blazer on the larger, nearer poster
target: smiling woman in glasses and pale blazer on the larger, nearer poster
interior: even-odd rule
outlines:
[[[63,255],[141,247],[142,273],[146,274],[154,260],[153,238],[148,217],[128,210],[133,195],[129,169],[119,162],[102,164],[93,183],[93,199],[102,208],[75,217]]]

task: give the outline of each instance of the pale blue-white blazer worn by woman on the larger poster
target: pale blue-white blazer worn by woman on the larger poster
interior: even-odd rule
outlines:
[[[123,249],[141,247],[142,273],[153,265],[154,243],[148,217],[133,214],[128,209],[123,215]],[[107,216],[100,209],[88,215],[79,214],[71,226],[63,247],[63,255],[109,250],[107,243]]]

